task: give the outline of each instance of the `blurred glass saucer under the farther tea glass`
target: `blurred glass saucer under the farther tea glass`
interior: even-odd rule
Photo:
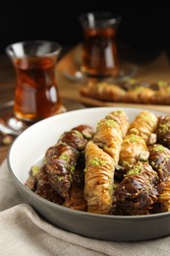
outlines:
[[[128,63],[128,62],[121,62],[120,64],[120,72],[115,77],[107,77],[107,78],[93,78],[96,80],[104,80],[108,83],[119,83],[126,81],[128,79],[133,78],[138,73],[138,67],[134,64]],[[85,74],[80,70],[76,69],[73,65],[69,66],[65,71],[64,74],[66,78],[72,82],[78,82],[78,83],[86,83],[88,80],[91,80],[92,77],[87,77]]]

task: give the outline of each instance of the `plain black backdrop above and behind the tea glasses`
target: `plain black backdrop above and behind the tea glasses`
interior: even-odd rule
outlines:
[[[83,40],[79,16],[91,11],[120,14],[122,22],[117,34],[118,44],[130,47],[139,56],[152,58],[161,50],[170,51],[170,1],[76,2],[34,0],[1,3],[0,52],[5,52],[5,47],[12,42],[30,39],[55,40],[63,49],[70,48]]]

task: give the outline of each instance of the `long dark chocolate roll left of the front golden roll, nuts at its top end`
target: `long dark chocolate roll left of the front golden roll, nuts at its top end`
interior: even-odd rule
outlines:
[[[92,128],[86,125],[65,132],[58,143],[47,150],[45,171],[51,187],[64,199],[69,198],[75,167],[87,141],[92,137]]]

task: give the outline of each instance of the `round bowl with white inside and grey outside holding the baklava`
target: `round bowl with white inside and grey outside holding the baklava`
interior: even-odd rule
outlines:
[[[87,237],[135,241],[170,234],[170,213],[149,216],[103,216],[68,209],[51,203],[30,191],[25,182],[30,166],[41,160],[46,150],[59,136],[80,124],[95,127],[107,113],[126,110],[132,121],[143,109],[124,107],[93,107],[49,117],[30,126],[13,143],[8,156],[8,166],[24,200],[47,222]],[[152,111],[156,114],[162,112]]]

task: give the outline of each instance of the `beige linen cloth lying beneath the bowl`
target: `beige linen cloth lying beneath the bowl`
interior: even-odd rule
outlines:
[[[0,255],[169,256],[170,237],[142,242],[101,241],[48,224],[20,197],[4,160],[0,167]]]

